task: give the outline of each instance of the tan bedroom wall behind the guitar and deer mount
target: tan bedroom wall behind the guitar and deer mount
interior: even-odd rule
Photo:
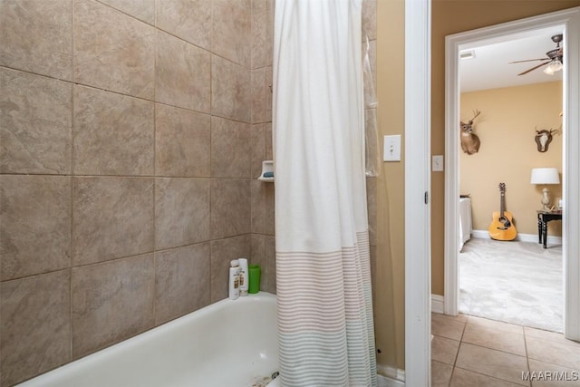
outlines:
[[[492,211],[499,210],[498,183],[506,184],[506,209],[519,234],[537,233],[536,209],[542,188],[529,183],[530,171],[556,167],[562,172],[562,134],[555,134],[546,152],[537,151],[536,129],[558,129],[562,122],[562,82],[492,89],[461,94],[461,119],[472,111],[481,140],[478,153],[459,155],[459,192],[471,195],[473,229],[487,230]],[[459,145],[458,145],[459,146]],[[553,202],[561,185],[550,185]],[[548,223],[549,235],[562,235],[561,222]]]

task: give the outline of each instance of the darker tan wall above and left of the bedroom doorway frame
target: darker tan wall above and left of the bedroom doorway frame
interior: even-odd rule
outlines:
[[[431,151],[433,154],[445,153],[445,36],[578,5],[580,5],[580,0],[433,0],[431,24]],[[385,50],[390,49],[390,47],[385,48]],[[399,76],[402,76],[402,73],[399,73]],[[443,295],[444,174],[439,172],[431,174],[431,197],[433,199],[431,205],[431,289],[433,294]]]

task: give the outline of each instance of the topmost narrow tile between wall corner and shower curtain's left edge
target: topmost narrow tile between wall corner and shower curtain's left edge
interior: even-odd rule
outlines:
[[[252,2],[252,69],[272,64],[273,16],[272,0]]]

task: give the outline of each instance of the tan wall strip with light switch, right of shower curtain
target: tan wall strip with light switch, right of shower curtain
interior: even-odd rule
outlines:
[[[404,132],[404,1],[377,4],[379,138]],[[401,147],[404,149],[404,140]],[[381,148],[382,149],[382,148]],[[381,152],[382,154],[382,152]],[[376,179],[375,331],[379,368],[404,368],[404,154]]]

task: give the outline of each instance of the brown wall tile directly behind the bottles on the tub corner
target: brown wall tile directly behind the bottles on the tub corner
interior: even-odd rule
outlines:
[[[249,258],[251,240],[249,234],[211,241],[211,302],[227,297],[229,263],[232,259]]]

